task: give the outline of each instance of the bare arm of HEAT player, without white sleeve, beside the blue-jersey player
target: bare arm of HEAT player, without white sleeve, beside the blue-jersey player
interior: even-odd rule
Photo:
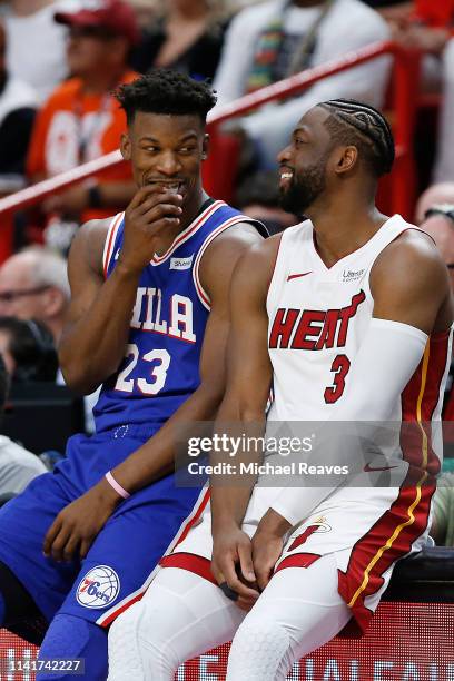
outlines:
[[[235,431],[253,437],[263,436],[265,409],[272,383],[268,354],[268,316],[266,296],[272,268],[276,259],[278,238],[267,239],[241,258],[231,286],[231,332],[228,348],[227,389],[219,409],[215,432]],[[259,458],[261,453],[238,452],[233,463]],[[224,461],[225,461],[224,456]],[[217,458],[211,456],[211,462]],[[243,519],[255,484],[255,476],[229,476],[228,484],[219,476],[211,477],[213,561],[211,571],[218,583],[239,594],[238,605],[250,608],[257,592],[253,589],[255,574],[249,537],[241,531]],[[237,574],[251,583],[247,586]]]

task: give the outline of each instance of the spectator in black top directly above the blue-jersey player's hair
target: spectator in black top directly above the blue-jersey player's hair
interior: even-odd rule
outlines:
[[[196,79],[213,78],[227,27],[223,6],[223,0],[160,0],[132,66],[141,72],[161,67]]]

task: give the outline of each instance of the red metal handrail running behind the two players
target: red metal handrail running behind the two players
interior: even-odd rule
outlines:
[[[394,213],[401,213],[406,217],[411,217],[415,188],[415,168],[412,144],[417,107],[418,59],[414,52],[408,52],[391,41],[372,43],[359,50],[348,52],[339,59],[307,69],[266,88],[261,88],[231,103],[217,107],[208,117],[208,129],[211,136],[211,161],[209,159],[206,161],[207,171],[204,172],[207,189],[214,196],[219,196],[217,191],[218,182],[216,181],[215,164],[220,124],[228,119],[243,116],[260,105],[297,95],[323,78],[335,76],[336,73],[357,67],[366,61],[382,57],[383,55],[392,55],[394,57],[389,114],[393,118],[396,161],[392,174],[392,181],[387,189],[387,191],[392,193],[389,205]],[[112,168],[124,162],[120,151],[112,151],[98,159],[83,164],[78,168],[68,170],[0,199],[0,218],[2,226],[6,227],[7,224],[10,223],[8,218],[12,213],[39,204],[51,194],[67,189],[71,185],[91,177],[100,170]]]

